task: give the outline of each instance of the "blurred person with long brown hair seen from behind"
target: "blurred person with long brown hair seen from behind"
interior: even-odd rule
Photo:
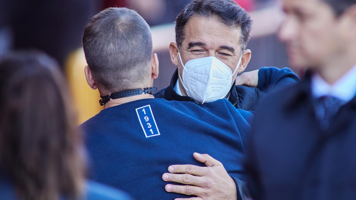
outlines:
[[[128,199],[85,181],[82,135],[58,68],[35,51],[0,58],[1,199]]]

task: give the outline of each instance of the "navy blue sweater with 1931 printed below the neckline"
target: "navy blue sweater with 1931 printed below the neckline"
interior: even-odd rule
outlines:
[[[204,105],[141,99],[109,107],[81,125],[91,178],[136,199],[187,197],[167,193],[161,177],[172,164],[204,166],[193,158],[201,152],[244,180],[242,159],[251,118],[226,99]]]

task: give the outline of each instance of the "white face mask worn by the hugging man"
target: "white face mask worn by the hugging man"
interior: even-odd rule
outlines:
[[[223,99],[229,93],[232,86],[232,76],[236,73],[239,64],[234,72],[226,64],[213,56],[189,60],[185,65],[182,58],[179,59],[183,66],[182,85],[188,96],[193,98],[198,104],[212,102]]]

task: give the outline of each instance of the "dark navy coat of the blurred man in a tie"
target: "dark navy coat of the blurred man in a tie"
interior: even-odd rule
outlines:
[[[325,130],[310,82],[266,97],[255,113],[246,164],[255,200],[356,199],[356,97]]]

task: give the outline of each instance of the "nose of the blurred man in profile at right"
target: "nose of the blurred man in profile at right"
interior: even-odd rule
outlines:
[[[288,17],[283,22],[278,32],[279,40],[290,42],[297,37],[297,22]]]

